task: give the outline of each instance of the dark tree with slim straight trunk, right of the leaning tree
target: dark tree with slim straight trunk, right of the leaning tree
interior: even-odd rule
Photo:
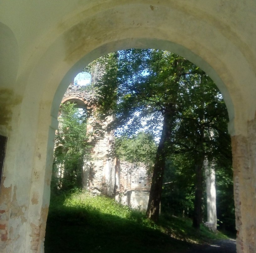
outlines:
[[[190,154],[195,168],[195,204],[193,226],[200,228],[202,220],[203,164],[205,159],[216,163],[231,159],[228,115],[220,92],[205,74],[190,86],[188,100],[180,115],[176,143],[178,149]],[[228,154],[226,157],[221,154]]]

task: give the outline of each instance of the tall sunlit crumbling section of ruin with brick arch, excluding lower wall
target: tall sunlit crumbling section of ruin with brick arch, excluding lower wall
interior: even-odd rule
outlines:
[[[104,128],[113,117],[109,116],[105,121],[100,121],[97,118],[93,91],[83,88],[72,83],[62,99],[62,103],[74,102],[87,111],[87,131],[92,149],[91,159],[84,159],[83,188],[95,195],[112,196],[115,187],[115,158],[109,157],[109,153],[114,142],[114,131],[106,132]]]

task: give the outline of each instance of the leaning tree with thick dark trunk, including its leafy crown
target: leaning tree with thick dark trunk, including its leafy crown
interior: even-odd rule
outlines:
[[[102,114],[114,113],[112,126],[127,125],[126,132],[141,128],[147,120],[151,130],[163,124],[152,175],[147,216],[157,221],[162,193],[163,172],[175,119],[185,92],[186,75],[192,64],[161,50],[125,50],[108,59],[109,71],[99,81],[99,105]],[[168,66],[168,68],[167,68]]]

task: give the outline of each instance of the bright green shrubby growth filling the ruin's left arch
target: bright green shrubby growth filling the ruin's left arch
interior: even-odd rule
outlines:
[[[82,187],[83,158],[89,150],[85,115],[74,103],[61,105],[61,110],[55,136],[52,190]]]

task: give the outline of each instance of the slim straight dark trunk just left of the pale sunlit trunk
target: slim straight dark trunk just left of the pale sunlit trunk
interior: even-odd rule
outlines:
[[[203,164],[204,155],[200,155],[200,153],[195,154],[195,202],[192,226],[197,230],[200,229],[200,223],[202,221]]]

